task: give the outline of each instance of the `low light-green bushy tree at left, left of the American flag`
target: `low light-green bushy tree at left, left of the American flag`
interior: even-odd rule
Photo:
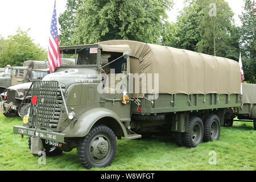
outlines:
[[[26,60],[45,60],[47,53],[32,42],[27,31],[20,28],[7,39],[0,38],[0,67],[21,66]]]

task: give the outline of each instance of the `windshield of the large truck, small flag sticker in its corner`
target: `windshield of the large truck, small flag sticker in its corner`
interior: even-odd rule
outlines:
[[[77,65],[97,65],[98,48],[85,47],[61,51],[61,59],[75,59]]]

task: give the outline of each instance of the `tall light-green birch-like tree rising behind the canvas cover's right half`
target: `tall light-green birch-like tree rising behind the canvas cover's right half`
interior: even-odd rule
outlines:
[[[226,57],[227,50],[230,49],[230,29],[234,13],[224,0],[197,2],[203,7],[199,27],[201,40],[197,43],[197,51]]]

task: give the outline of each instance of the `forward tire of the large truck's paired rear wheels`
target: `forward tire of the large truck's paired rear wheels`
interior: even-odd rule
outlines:
[[[184,145],[188,148],[197,147],[204,137],[203,121],[199,117],[192,117],[188,121],[188,131],[183,133]]]

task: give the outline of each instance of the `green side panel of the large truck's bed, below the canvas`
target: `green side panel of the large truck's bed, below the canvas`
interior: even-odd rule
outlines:
[[[131,111],[138,114],[171,113],[178,111],[193,111],[241,106],[240,94],[159,94],[157,100],[148,100],[149,94],[141,99],[141,104],[131,105]]]

